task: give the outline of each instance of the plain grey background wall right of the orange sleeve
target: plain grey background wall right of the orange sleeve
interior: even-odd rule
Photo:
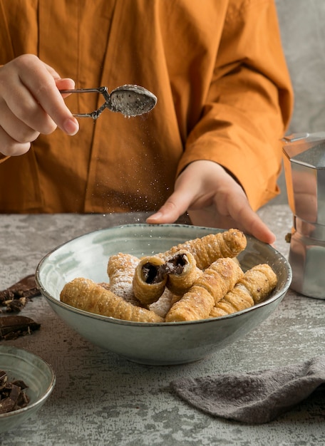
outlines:
[[[275,2],[295,95],[288,133],[325,131],[325,0]],[[279,187],[273,204],[287,202],[283,172]]]

